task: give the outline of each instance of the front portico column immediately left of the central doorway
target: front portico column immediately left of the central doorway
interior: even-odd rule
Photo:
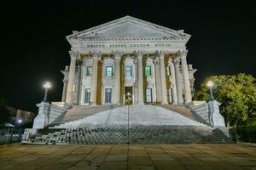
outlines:
[[[120,103],[120,60],[122,54],[119,52],[114,53],[114,86],[113,86],[113,104]]]

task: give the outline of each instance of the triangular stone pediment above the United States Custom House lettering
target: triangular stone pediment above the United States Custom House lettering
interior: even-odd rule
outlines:
[[[75,31],[67,39],[112,39],[112,38],[174,38],[188,40],[189,34],[158,26],[145,20],[125,16],[84,31]]]

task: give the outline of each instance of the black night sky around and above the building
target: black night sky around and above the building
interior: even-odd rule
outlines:
[[[188,62],[196,86],[208,76],[245,72],[256,77],[256,1],[8,1],[0,5],[0,96],[37,111],[42,84],[61,100],[60,70],[69,64],[65,36],[131,15],[192,35]]]

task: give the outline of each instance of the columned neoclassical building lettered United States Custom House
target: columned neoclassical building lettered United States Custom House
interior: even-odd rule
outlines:
[[[183,104],[195,69],[187,64],[189,34],[125,16],[67,36],[70,65],[62,101],[73,105]]]

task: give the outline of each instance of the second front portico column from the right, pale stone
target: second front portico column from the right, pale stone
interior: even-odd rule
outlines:
[[[168,104],[167,89],[166,89],[166,67],[165,67],[165,54],[161,51],[160,58],[160,82],[161,82],[161,104]]]

